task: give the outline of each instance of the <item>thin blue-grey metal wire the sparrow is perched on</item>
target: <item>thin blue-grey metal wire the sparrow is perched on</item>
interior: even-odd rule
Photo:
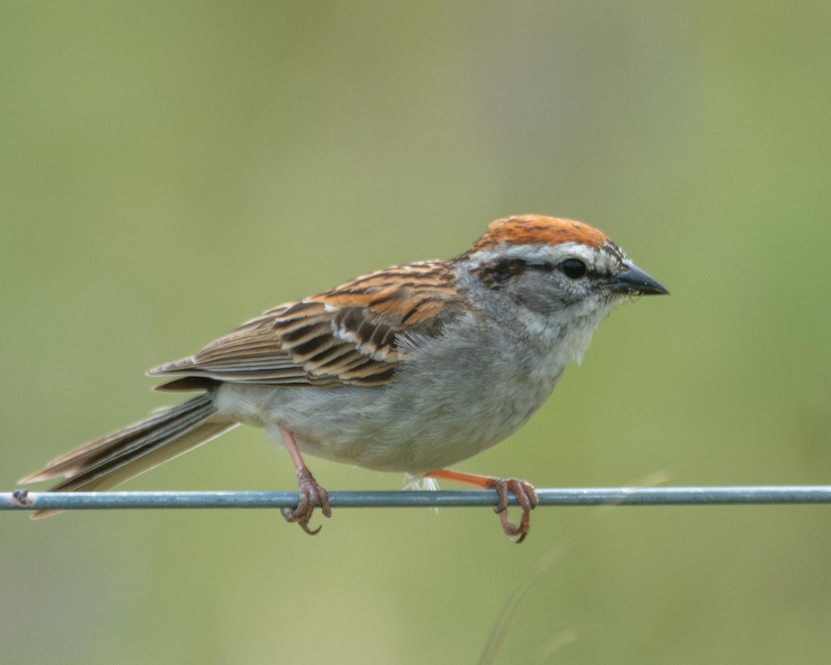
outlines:
[[[827,504],[831,485],[732,487],[576,487],[538,489],[539,505]],[[30,492],[0,493],[0,510],[113,508],[293,508],[297,492]],[[332,507],[450,508],[496,505],[495,490],[329,492]],[[509,494],[509,503],[516,498]]]

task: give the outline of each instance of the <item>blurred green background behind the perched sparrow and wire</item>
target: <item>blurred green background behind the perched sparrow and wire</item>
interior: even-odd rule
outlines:
[[[829,7],[6,3],[0,486],[168,403],[145,368],[525,212],[596,224],[672,295],[460,468],[828,482]],[[125,489],[294,486],[240,428]],[[313,539],[268,510],[6,513],[2,661],[473,663],[562,546],[496,662],[827,663],[829,510],[548,508],[519,547],[487,509],[337,510]]]

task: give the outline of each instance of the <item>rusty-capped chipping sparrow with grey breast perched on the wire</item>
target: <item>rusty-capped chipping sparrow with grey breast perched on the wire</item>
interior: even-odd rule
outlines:
[[[20,482],[65,476],[55,490],[106,489],[243,422],[288,448],[300,494],[283,516],[308,533],[317,533],[314,507],[330,509],[301,451],[495,488],[503,530],[519,542],[537,502],[532,485],[443,467],[519,429],[612,307],[649,293],[667,291],[587,224],[497,219],[455,259],[384,268],[280,305],[151,369],[179,375],[157,390],[201,394]]]

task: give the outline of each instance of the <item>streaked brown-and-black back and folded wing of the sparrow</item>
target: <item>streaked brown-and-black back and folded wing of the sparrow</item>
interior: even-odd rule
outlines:
[[[160,389],[199,387],[204,377],[272,386],[390,382],[406,359],[401,342],[431,336],[458,316],[462,297],[444,261],[363,275],[311,298],[268,310],[194,356],[155,367],[181,374]]]

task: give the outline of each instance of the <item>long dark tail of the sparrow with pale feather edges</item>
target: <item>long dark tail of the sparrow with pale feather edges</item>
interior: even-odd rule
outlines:
[[[98,441],[87,443],[52,460],[18,484],[66,477],[55,492],[106,490],[162,462],[195,448],[236,426],[214,421],[214,401],[208,394],[156,413]],[[37,510],[33,520],[61,510]]]

